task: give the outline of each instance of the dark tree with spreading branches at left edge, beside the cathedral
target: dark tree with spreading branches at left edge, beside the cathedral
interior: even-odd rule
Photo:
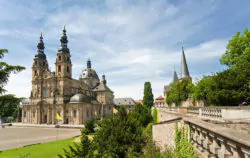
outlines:
[[[4,54],[8,53],[7,49],[0,49],[0,59],[4,57]],[[5,94],[7,91],[4,86],[8,83],[8,79],[11,73],[18,73],[25,68],[23,66],[13,66],[6,62],[0,61],[0,116],[12,116],[17,108],[17,105],[22,98],[17,98],[13,94]]]

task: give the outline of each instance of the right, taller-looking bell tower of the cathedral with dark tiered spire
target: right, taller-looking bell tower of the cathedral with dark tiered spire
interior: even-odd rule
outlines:
[[[70,59],[70,51],[67,47],[68,39],[66,35],[65,25],[63,28],[63,34],[60,39],[61,46],[58,49],[57,58],[56,58],[56,76],[57,77],[72,77],[72,64]]]

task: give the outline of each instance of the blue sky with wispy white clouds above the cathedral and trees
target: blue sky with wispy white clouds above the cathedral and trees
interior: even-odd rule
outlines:
[[[145,81],[155,97],[180,75],[181,46],[194,81],[223,70],[219,63],[228,40],[250,26],[249,0],[0,0],[0,48],[5,61],[26,70],[11,75],[8,93],[28,97],[31,65],[43,32],[45,53],[54,70],[63,25],[78,78],[90,57],[106,74],[115,97],[142,99]]]

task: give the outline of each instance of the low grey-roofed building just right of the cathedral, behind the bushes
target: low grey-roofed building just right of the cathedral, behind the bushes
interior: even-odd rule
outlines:
[[[118,110],[121,106],[124,106],[127,112],[130,112],[136,103],[132,98],[115,98],[114,105]]]

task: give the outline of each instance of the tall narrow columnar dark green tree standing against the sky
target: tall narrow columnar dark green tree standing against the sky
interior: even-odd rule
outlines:
[[[152,107],[154,105],[154,95],[152,93],[151,83],[144,83],[144,96],[143,96],[143,104]]]

